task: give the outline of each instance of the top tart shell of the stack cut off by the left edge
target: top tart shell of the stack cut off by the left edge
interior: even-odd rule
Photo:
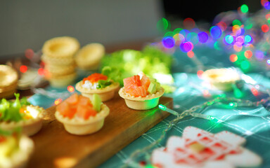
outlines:
[[[18,73],[11,66],[0,65],[0,88],[14,85],[18,81]]]

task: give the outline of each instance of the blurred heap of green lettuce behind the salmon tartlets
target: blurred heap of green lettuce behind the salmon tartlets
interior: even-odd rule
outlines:
[[[103,57],[101,68],[104,74],[109,66],[113,72],[117,71],[122,76],[113,73],[115,81],[123,85],[123,79],[134,76],[143,71],[147,76],[154,77],[155,73],[170,74],[172,65],[172,56],[163,52],[155,46],[148,45],[142,51],[138,50],[120,50]],[[115,72],[116,73],[116,72]]]

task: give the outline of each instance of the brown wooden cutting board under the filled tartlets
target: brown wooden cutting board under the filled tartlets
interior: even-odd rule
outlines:
[[[84,136],[65,131],[54,116],[56,106],[46,109],[41,130],[32,136],[35,150],[28,167],[97,167],[169,116],[158,107],[147,111],[129,109],[118,94],[105,104],[110,114],[103,128]],[[160,97],[160,104],[172,108],[172,98]]]

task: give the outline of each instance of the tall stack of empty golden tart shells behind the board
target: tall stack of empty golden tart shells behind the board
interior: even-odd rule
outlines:
[[[43,45],[41,56],[45,78],[53,87],[72,85],[77,77],[74,56],[79,50],[76,38],[62,36],[51,38]]]

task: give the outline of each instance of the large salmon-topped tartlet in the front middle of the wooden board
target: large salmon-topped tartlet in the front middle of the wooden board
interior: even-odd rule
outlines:
[[[91,102],[88,97],[83,97],[82,95],[79,95],[80,98],[78,98],[78,102],[76,103],[74,103],[74,97],[76,97],[76,94],[73,94],[71,99],[68,98],[67,100],[65,100],[66,102],[64,101],[61,103],[62,105],[59,105],[62,107],[56,109],[56,119],[60,123],[63,123],[65,130],[70,134],[93,134],[94,132],[98,132],[98,130],[101,130],[104,124],[105,117],[107,117],[110,113],[110,109],[108,108],[108,106],[102,104],[100,98],[98,98],[99,100],[97,101],[98,103],[96,103],[96,105],[99,106],[100,109],[99,111],[97,111],[96,109],[94,109],[95,105],[92,104],[93,101]],[[95,97],[98,97],[98,95],[96,94]],[[85,103],[85,100],[88,102]],[[94,102],[96,102],[96,100],[94,100]],[[65,103],[68,105],[65,105]],[[75,104],[77,104],[76,107]],[[70,106],[70,109],[66,109],[65,106]],[[79,108],[84,109],[84,112],[80,111]],[[89,112],[87,112],[87,110],[85,109],[89,109]]]

